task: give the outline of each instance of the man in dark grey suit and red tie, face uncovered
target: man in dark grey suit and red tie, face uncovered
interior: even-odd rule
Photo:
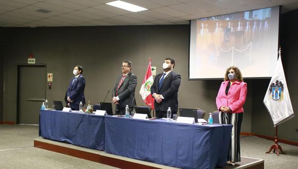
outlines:
[[[125,107],[128,105],[129,112],[136,106],[135,89],[137,86],[137,76],[132,74],[132,62],[122,62],[122,75],[118,78],[113,89],[112,102],[116,104],[116,114],[125,114]]]

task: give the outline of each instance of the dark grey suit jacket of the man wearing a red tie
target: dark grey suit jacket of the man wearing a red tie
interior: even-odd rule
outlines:
[[[116,97],[116,91],[119,86],[119,82],[122,76],[118,77],[118,81],[113,89],[112,97]],[[119,97],[119,105],[120,108],[125,108],[128,105],[129,108],[133,108],[136,106],[136,99],[135,99],[135,90],[137,86],[137,76],[129,72],[127,76],[124,78],[121,86],[118,89],[118,97]]]

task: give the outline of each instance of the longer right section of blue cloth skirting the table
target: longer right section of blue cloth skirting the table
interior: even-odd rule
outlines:
[[[231,130],[105,116],[105,152],[179,168],[215,168],[226,163]]]

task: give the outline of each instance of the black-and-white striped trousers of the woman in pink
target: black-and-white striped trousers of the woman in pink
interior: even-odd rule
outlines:
[[[240,158],[240,131],[241,123],[243,119],[243,113],[224,113],[220,112],[221,115],[219,122],[221,124],[232,124],[232,134],[230,141],[230,149],[228,153],[227,161],[239,162]]]

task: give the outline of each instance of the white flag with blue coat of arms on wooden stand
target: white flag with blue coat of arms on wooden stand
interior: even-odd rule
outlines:
[[[274,127],[295,116],[282,64],[281,49],[278,51],[278,56],[275,71],[263,101],[271,115]]]

